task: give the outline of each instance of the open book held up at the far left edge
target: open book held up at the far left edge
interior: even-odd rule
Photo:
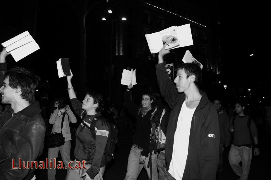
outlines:
[[[28,31],[3,42],[2,45],[7,52],[11,53],[16,62],[40,48]]]

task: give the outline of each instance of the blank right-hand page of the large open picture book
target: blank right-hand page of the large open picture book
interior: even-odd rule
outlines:
[[[180,38],[180,46],[181,47],[193,45],[190,24],[178,26],[177,32],[178,32],[178,37]]]

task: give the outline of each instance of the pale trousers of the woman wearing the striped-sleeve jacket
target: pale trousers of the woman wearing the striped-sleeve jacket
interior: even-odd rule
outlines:
[[[75,161],[76,160],[74,160],[74,162]],[[81,165],[81,167],[82,167],[81,169],[76,169],[76,168],[68,169],[68,173],[66,175],[65,180],[85,180],[86,176],[84,177],[81,177],[81,176],[91,167],[91,165],[85,164],[86,169],[83,168],[83,165]],[[96,176],[94,176],[93,180],[103,180],[104,169],[105,169],[105,166],[101,167],[99,173]]]

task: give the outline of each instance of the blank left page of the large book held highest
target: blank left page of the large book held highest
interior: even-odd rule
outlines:
[[[152,34],[145,34],[149,50],[151,53],[158,53],[163,47],[163,42],[160,37],[160,32],[155,32]]]

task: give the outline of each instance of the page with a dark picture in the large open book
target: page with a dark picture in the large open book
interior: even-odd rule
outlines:
[[[165,49],[173,49],[180,47],[180,40],[178,38],[176,26],[171,26],[170,28],[160,31],[161,39],[163,44],[167,44]]]

